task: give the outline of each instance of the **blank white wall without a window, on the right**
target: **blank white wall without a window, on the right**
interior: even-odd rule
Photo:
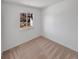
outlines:
[[[61,1],[42,13],[43,35],[77,51],[77,0]]]

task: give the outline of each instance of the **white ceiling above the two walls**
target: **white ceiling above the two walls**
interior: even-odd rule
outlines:
[[[51,4],[56,4],[62,0],[4,0],[4,1],[43,8]]]

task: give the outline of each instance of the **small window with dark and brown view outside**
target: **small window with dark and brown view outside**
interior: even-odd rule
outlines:
[[[28,29],[33,26],[33,14],[32,13],[20,13],[20,28]]]

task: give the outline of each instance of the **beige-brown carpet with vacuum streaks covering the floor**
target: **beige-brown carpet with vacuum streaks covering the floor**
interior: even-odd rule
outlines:
[[[5,51],[2,59],[78,59],[77,52],[42,36]]]

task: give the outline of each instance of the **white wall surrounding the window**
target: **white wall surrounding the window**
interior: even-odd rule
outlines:
[[[33,13],[33,28],[19,30],[21,12]],[[40,10],[30,6],[2,2],[2,51],[13,48],[41,34]]]

